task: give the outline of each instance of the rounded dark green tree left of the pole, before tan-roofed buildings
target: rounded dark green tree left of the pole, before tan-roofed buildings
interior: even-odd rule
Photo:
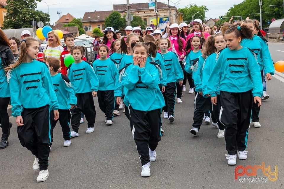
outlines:
[[[126,22],[126,21],[125,21]],[[112,12],[106,17],[104,21],[105,27],[113,27],[114,30],[123,30],[125,22],[122,20],[120,13],[117,11]]]

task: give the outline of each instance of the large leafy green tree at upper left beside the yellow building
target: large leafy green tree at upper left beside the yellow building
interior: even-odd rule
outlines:
[[[4,19],[4,29],[28,28],[32,27],[32,21],[50,21],[49,14],[35,10],[37,2],[41,0],[7,0],[7,14]]]

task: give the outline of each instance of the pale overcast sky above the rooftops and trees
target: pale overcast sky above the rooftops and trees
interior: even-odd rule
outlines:
[[[159,2],[168,4],[167,0],[158,0]],[[233,7],[234,4],[239,4],[243,0],[234,0],[234,1],[224,1],[224,0],[196,0],[196,1],[188,1],[188,0],[171,0],[172,2],[176,3],[177,8],[183,8],[188,4],[196,4],[198,6],[205,5],[209,11],[206,13],[206,18],[218,18],[221,15],[224,15],[230,7]],[[174,6],[174,3],[170,1],[170,5]],[[57,11],[61,11],[62,15],[67,14],[68,12],[72,14],[75,18],[83,18],[85,12],[93,12],[93,11],[107,11],[112,10],[113,4],[126,4],[123,1],[117,0],[107,0],[107,1],[90,1],[90,0],[43,0],[38,3],[38,10],[47,13],[47,5],[44,3],[46,2],[49,4],[49,14],[50,14],[50,23],[53,24],[58,20]],[[107,4],[105,4],[107,2]],[[118,3],[120,2],[120,3]],[[145,3],[149,2],[149,0],[130,0],[131,3]],[[177,3],[178,2],[178,3]],[[58,5],[52,5],[57,4]]]

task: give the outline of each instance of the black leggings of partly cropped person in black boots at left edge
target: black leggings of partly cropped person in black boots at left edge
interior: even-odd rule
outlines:
[[[10,97],[0,97],[0,123],[3,134],[9,134],[9,115],[7,113],[7,107],[10,102]]]

